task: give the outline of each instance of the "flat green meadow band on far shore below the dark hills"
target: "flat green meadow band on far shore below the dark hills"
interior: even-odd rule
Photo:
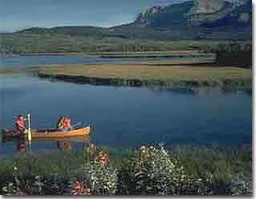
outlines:
[[[143,34],[144,35],[144,34]],[[159,37],[161,32],[157,32]],[[166,35],[165,35],[166,36]],[[165,38],[165,37],[164,37]],[[70,36],[67,34],[0,34],[2,50],[17,54],[61,52],[142,52],[201,50],[228,44],[226,40],[172,40]],[[250,41],[249,41],[250,42]]]

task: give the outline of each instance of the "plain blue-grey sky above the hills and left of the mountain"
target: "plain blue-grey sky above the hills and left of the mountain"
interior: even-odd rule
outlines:
[[[0,0],[0,32],[52,26],[116,26],[150,6],[185,0]]]

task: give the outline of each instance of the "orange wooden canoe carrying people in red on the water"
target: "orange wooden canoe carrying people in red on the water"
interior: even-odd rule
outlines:
[[[32,129],[31,131],[32,139],[78,137],[78,136],[85,136],[89,134],[90,134],[90,126],[79,128],[79,129],[67,130],[67,131],[61,131],[58,129],[39,129],[39,130]],[[27,133],[25,134],[25,136],[27,137]],[[3,129],[2,137],[21,137],[21,135],[18,135],[14,131]]]

